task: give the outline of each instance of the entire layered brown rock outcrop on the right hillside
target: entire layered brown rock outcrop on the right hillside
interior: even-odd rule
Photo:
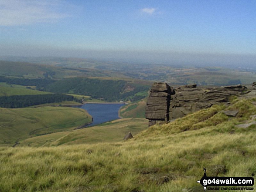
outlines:
[[[157,121],[184,117],[217,103],[229,103],[229,96],[244,94],[245,86],[198,88],[196,84],[171,88],[166,83],[154,83],[147,101],[146,118],[149,126]]]

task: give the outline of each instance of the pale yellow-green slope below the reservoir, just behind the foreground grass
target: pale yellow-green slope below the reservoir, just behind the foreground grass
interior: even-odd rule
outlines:
[[[94,144],[99,142],[123,141],[123,137],[130,131],[137,135],[147,129],[148,121],[144,118],[125,118],[102,125],[73,131],[63,131],[48,135],[28,138],[20,142],[19,146],[58,146],[74,144]]]

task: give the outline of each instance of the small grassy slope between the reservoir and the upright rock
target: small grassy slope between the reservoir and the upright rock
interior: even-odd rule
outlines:
[[[120,116],[123,118],[145,118],[147,98],[123,106]]]

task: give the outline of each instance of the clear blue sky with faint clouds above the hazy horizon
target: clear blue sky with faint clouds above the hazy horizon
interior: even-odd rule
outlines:
[[[0,55],[256,61],[255,0],[0,0]]]

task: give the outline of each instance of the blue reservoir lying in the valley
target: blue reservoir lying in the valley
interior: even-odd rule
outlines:
[[[107,121],[113,121],[119,119],[118,111],[122,107],[123,103],[118,104],[103,104],[103,103],[86,103],[77,108],[85,109],[90,115],[92,115],[93,121],[89,126],[98,125]]]

